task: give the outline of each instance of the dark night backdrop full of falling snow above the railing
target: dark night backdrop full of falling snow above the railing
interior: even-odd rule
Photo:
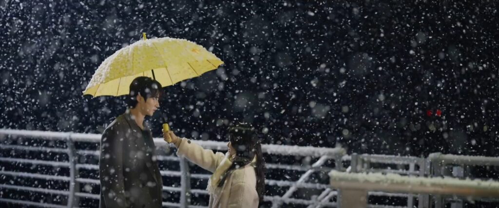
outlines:
[[[101,133],[123,99],[82,91],[147,32],[225,61],[165,88],[156,137],[166,120],[226,141],[245,121],[271,144],[499,155],[494,1],[0,0],[0,12],[1,128]]]

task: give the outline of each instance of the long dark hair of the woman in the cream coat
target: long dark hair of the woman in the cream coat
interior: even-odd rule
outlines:
[[[258,198],[260,202],[262,202],[265,192],[265,161],[263,160],[261,142],[258,139],[256,131],[248,124],[235,125],[229,128],[229,141],[231,142],[232,147],[236,149],[236,156],[232,163],[232,167],[227,173],[250,164],[256,156],[256,164],[254,167],[256,174],[256,193],[258,193]],[[224,181],[225,179],[222,180],[222,182]],[[220,183],[219,186],[221,186],[221,184],[223,185],[223,183]]]

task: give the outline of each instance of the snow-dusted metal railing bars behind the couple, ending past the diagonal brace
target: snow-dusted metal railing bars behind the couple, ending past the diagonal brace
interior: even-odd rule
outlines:
[[[7,137],[10,138],[28,138],[28,139],[42,139],[49,141],[66,141],[67,148],[49,148],[49,147],[33,147],[26,145],[0,145],[2,150],[24,150],[24,151],[40,151],[40,152],[54,152],[54,153],[66,153],[69,156],[69,161],[45,161],[45,160],[32,160],[32,159],[22,159],[22,158],[5,158],[0,157],[0,162],[10,162],[10,163],[25,163],[31,165],[44,165],[52,167],[68,167],[70,169],[69,176],[51,176],[37,173],[23,173],[23,172],[12,172],[12,171],[0,171],[1,175],[11,176],[11,177],[25,177],[25,178],[35,178],[44,180],[56,180],[69,182],[69,191],[61,190],[51,190],[44,188],[31,188],[22,187],[14,185],[3,185],[0,189],[13,189],[19,191],[30,191],[38,193],[50,193],[50,194],[61,194],[68,197],[67,207],[72,207],[78,205],[79,198],[88,198],[98,200],[99,195],[79,192],[79,184],[94,184],[100,185],[98,179],[87,179],[79,178],[79,170],[98,170],[97,164],[81,164],[77,163],[78,155],[88,155],[88,156],[98,156],[98,150],[77,150],[74,147],[74,142],[89,142],[89,143],[100,143],[101,135],[99,134],[80,134],[80,133],[66,133],[66,132],[44,132],[44,131],[27,131],[27,130],[13,130],[13,129],[0,129],[0,140],[3,141]],[[162,147],[173,147],[171,144],[167,144],[162,138],[154,138],[155,145],[161,149]],[[213,150],[227,150],[226,142],[216,142],[216,141],[196,141],[199,145],[206,149]],[[262,152],[265,154],[273,155],[293,155],[293,156],[309,156],[309,157],[320,157],[319,161],[311,166],[297,166],[297,165],[285,165],[285,164],[271,164],[267,163],[266,168],[268,169],[283,169],[283,170],[299,170],[305,171],[305,174],[300,178],[298,182],[294,181],[279,181],[279,180],[265,180],[268,186],[278,186],[278,187],[289,187],[289,190],[284,196],[265,196],[265,202],[271,202],[274,205],[285,204],[301,204],[301,205],[317,205],[317,206],[327,206],[334,207],[335,203],[330,202],[335,192],[328,192],[324,194],[320,202],[316,200],[304,200],[304,199],[293,199],[291,194],[298,188],[306,189],[328,189],[327,184],[317,184],[317,183],[306,183],[306,179],[310,177],[311,173],[316,171],[330,171],[332,168],[321,167],[326,159],[334,159],[336,167],[340,170],[342,169],[341,158],[345,155],[346,151],[342,148],[317,148],[317,147],[299,147],[299,146],[285,146],[285,145],[262,145]],[[163,206],[167,207],[199,207],[202,206],[192,206],[189,205],[190,194],[202,194],[208,195],[206,190],[196,190],[190,189],[190,179],[208,179],[210,175],[207,174],[188,174],[189,168],[187,161],[183,158],[178,158],[174,156],[158,155],[158,161],[179,161],[180,171],[171,170],[161,170],[160,173],[164,177],[181,177],[181,187],[167,187],[163,186],[164,191],[180,192],[181,200],[180,203],[164,202]],[[51,191],[47,191],[51,190]],[[190,194],[189,194],[190,193]],[[62,195],[62,194],[61,194]],[[7,202],[13,204],[23,204],[37,207],[65,207],[55,204],[43,204],[36,202],[28,202],[13,199],[0,199],[0,202]]]

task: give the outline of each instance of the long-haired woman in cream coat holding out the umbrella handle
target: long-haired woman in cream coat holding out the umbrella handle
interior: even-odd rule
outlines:
[[[178,148],[177,155],[210,171],[209,208],[257,208],[265,190],[265,168],[260,140],[255,130],[240,124],[229,128],[229,151],[213,153],[163,130],[165,141]]]

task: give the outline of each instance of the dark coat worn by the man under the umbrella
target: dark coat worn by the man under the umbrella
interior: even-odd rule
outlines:
[[[102,134],[100,208],[161,208],[162,188],[151,132],[127,111]]]

